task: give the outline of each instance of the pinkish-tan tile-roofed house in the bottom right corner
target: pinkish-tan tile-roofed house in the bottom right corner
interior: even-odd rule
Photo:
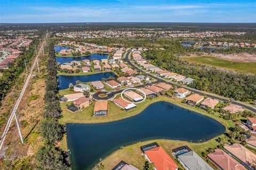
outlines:
[[[256,163],[255,153],[243,147],[242,144],[234,143],[232,145],[225,145],[224,148],[236,159],[241,160],[245,166],[247,165],[252,168],[252,165]]]

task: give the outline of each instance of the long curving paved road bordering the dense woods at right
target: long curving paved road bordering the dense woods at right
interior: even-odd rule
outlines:
[[[165,80],[165,79],[163,79],[163,78],[161,78],[161,77],[157,77],[157,76],[152,75],[152,74],[150,74],[150,73],[148,73],[148,72],[146,72],[146,71],[144,71],[144,70],[141,70],[139,67],[135,66],[135,64],[133,64],[133,63],[130,61],[129,55],[130,55],[130,52],[126,53],[125,59],[126,59],[127,63],[128,63],[130,66],[134,67],[134,68],[137,69],[137,70],[140,70],[140,71],[144,72],[144,73],[147,74],[149,77],[156,79],[157,82],[164,82],[164,83],[169,83],[169,84],[172,84],[172,85],[178,85],[178,84],[175,83],[175,82],[171,82],[170,80]],[[191,92],[193,92],[193,93],[198,93],[198,94],[201,94],[201,95],[207,95],[207,96],[209,96],[210,98],[213,98],[213,99],[218,99],[218,100],[222,100],[222,101],[227,101],[227,100],[229,100],[228,98],[225,98],[225,97],[222,97],[222,96],[218,96],[218,95],[215,95],[215,94],[211,94],[211,93],[207,93],[207,92],[198,91],[198,90],[196,90],[196,89],[194,89],[194,88],[190,88],[190,87],[187,87],[187,86],[184,86],[184,85],[181,85],[181,87],[186,88],[187,90],[189,90],[189,91],[191,91]],[[233,103],[234,103],[234,104],[237,104],[238,106],[242,106],[242,107],[246,108],[247,110],[256,112],[256,108],[253,107],[253,106],[249,106],[249,105],[247,105],[247,104],[245,104],[245,103],[242,103],[242,102],[239,102],[239,101],[235,101],[235,102],[233,102]]]

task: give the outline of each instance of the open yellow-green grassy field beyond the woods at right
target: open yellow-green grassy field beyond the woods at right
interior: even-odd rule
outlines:
[[[225,68],[228,70],[234,70],[243,73],[256,74],[255,62],[234,62],[216,58],[213,56],[186,56],[182,57],[189,62],[195,62],[199,64],[205,64],[207,66],[213,66],[218,68]]]

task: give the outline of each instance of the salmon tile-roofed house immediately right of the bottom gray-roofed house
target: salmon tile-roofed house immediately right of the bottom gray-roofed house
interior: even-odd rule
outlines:
[[[246,170],[246,168],[221,149],[215,149],[208,157],[212,163],[222,170]]]

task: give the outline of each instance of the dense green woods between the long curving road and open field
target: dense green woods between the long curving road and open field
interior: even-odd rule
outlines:
[[[151,60],[167,70],[195,78],[189,86],[240,101],[256,100],[256,76],[238,74],[199,64],[188,63],[173,55],[173,50],[149,50],[145,53]]]

